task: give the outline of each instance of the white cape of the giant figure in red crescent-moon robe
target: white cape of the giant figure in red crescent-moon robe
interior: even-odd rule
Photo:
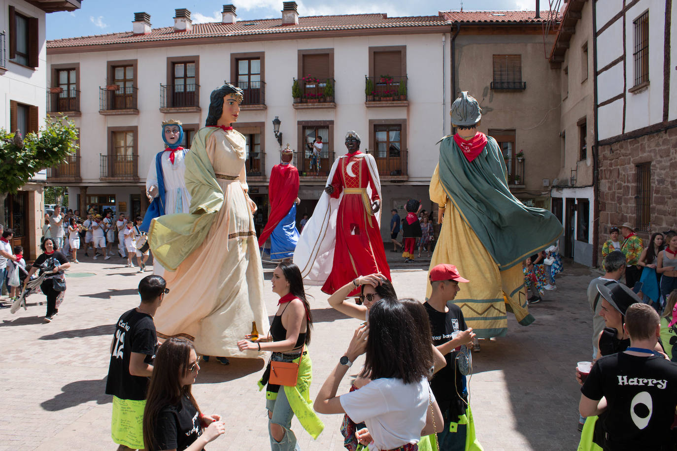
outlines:
[[[368,153],[359,153],[357,157],[363,157],[367,160],[367,167],[376,185],[378,198],[381,199],[380,178],[378,177],[378,167],[376,160]],[[334,179],[334,172],[339,166],[341,158],[347,158],[343,155],[334,161],[332,170],[327,178],[327,185],[331,185]],[[367,185],[367,195],[372,198],[372,189]],[[299,243],[294,250],[294,264],[299,266],[303,282],[307,285],[324,285],[328,279],[332,266],[334,266],[334,247],[336,246],[336,214],[339,212],[339,205],[343,199],[343,191],[338,199],[334,199],[325,191],[322,191],[318,205],[315,206],[313,216],[303,226]],[[383,207],[383,203],[381,204]],[[374,214],[376,222],[380,228],[380,212]]]

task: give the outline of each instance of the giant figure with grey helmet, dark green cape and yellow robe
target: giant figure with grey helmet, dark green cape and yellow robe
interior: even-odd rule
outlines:
[[[510,193],[496,140],[477,131],[477,100],[462,92],[451,115],[458,133],[441,140],[430,182],[442,224],[430,268],[455,264],[471,281],[454,300],[466,324],[479,338],[500,337],[507,332],[506,309],[521,325],[534,321],[521,262],[554,243],[563,227],[552,213],[527,207]]]

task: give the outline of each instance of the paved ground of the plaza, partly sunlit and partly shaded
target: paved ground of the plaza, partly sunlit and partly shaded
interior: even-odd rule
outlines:
[[[389,247],[386,247],[389,250]],[[387,252],[392,260],[398,254]],[[395,263],[395,262],[393,262]],[[427,261],[393,264],[401,297],[422,299]],[[271,269],[266,269],[266,279]],[[146,272],[146,275],[150,272]],[[573,450],[577,404],[573,377],[578,360],[589,360],[591,317],[585,290],[594,271],[573,264],[557,280],[557,291],[531,306],[536,322],[521,327],[508,316],[507,337],[481,341],[470,381],[477,435],[487,451]],[[142,275],[123,260],[82,258],[68,271],[66,300],[54,321],[43,324],[43,295],[28,298],[28,310],[0,309],[0,451],[114,450],[110,440],[111,397],[104,394],[112,324],[138,304]],[[269,282],[266,281],[266,287]],[[328,308],[319,287],[309,287],[315,333],[311,396],[347,348],[359,324]],[[268,312],[277,296],[269,292]],[[199,293],[196,293],[199,295]],[[224,437],[207,448],[265,450],[269,447],[265,399],[256,387],[263,360],[214,360],[202,365],[193,393],[203,412],[223,415]],[[349,373],[355,375],[362,360]],[[349,388],[346,377],[339,393]],[[313,441],[296,419],[292,429],[303,450],[343,450],[339,415],[322,415],[324,432]]]

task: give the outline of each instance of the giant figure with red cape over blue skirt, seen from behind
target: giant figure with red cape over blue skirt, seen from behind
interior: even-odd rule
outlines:
[[[296,228],[296,208],[300,202],[299,170],[291,164],[293,156],[294,152],[287,144],[282,150],[282,162],[273,166],[270,172],[270,213],[259,235],[259,247],[263,247],[270,237],[270,258],[274,261],[290,261],[299,242]]]

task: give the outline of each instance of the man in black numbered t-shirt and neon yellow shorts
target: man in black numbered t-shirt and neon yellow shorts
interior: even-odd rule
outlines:
[[[142,420],[158,343],[153,315],[169,292],[165,286],[165,279],[157,275],[141,279],[141,304],[118,319],[110,343],[106,394],[113,396],[110,429],[118,451],[145,448]]]

